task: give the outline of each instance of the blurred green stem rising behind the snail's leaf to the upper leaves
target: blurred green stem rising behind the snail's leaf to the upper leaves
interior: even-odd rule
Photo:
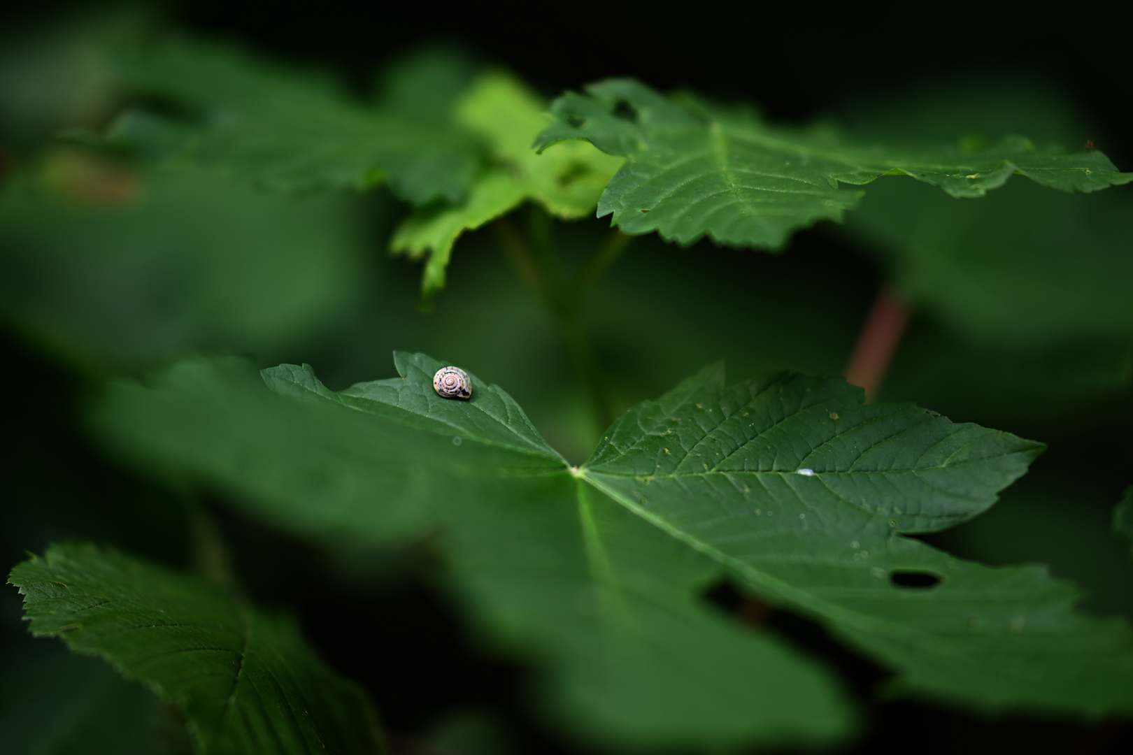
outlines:
[[[517,273],[519,273],[520,278],[539,297],[544,306],[554,316],[555,321],[559,324],[559,329],[566,342],[566,351],[574,367],[574,374],[582,384],[582,388],[594,410],[598,428],[604,429],[608,427],[613,421],[610,397],[606,393],[602,369],[598,366],[597,352],[594,349],[589,334],[582,325],[581,294],[583,286],[578,285],[578,277],[576,277],[572,284],[568,284],[563,275],[562,265],[559,261],[559,255],[554,247],[551,218],[540,209],[533,209],[530,215],[530,243],[525,241],[514,222],[509,216],[495,221],[492,224],[492,229],[496,234],[500,247]],[[598,249],[595,258],[602,256],[608,258],[608,261],[597,266],[594,276],[616,258],[621,248],[624,248],[624,243],[619,246],[620,248],[611,251],[604,251],[604,248]]]

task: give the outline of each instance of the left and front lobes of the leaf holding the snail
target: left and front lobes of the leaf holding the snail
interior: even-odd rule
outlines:
[[[580,484],[522,410],[475,375],[438,397],[440,362],[398,354],[401,378],[335,394],[310,368],[187,363],[155,389],[116,388],[95,419],[131,456],[253,492],[259,516],[306,537],[380,542],[443,522],[468,611],[550,671],[544,697],[579,736],[627,746],[828,741],[846,703],[827,672],[746,633],[699,593],[717,568]]]

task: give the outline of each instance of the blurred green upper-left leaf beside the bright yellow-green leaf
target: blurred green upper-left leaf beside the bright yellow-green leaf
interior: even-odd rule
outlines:
[[[110,129],[112,144],[163,160],[221,165],[279,189],[365,189],[389,180],[414,203],[458,201],[479,166],[477,145],[449,121],[451,86],[462,70],[403,71],[433,86],[404,108],[391,86],[390,106],[350,102],[331,80],[254,59],[233,48],[170,38],[120,57],[120,76],[136,93],[172,102],[181,118],[133,110]]]

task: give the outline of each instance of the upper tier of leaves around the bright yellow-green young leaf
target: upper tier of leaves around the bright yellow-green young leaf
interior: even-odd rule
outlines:
[[[161,106],[143,97],[110,128],[109,144],[159,162],[222,165],[278,189],[366,189],[389,180],[417,206],[390,247],[415,259],[428,256],[426,307],[444,286],[461,233],[525,200],[560,217],[581,217],[596,206],[631,234],[656,230],[681,243],[707,234],[721,243],[781,248],[795,231],[841,221],[859,205],[863,192],[840,182],[901,174],[952,197],[982,197],[1013,173],[1064,191],[1133,180],[1096,149],[1066,154],[1003,135],[994,146],[965,138],[940,147],[887,134],[878,146],[826,125],[774,127],[750,109],[668,98],[629,79],[591,85],[588,95],[568,93],[552,104],[554,120],[546,125],[537,97],[513,77],[488,72],[467,84],[470,67],[453,55],[406,61],[387,77],[380,104],[364,108],[325,78],[233,49],[179,38],[127,50],[114,58],[122,86]],[[533,138],[540,153],[587,139],[608,156],[569,144],[539,158],[528,148]],[[901,201],[887,207],[897,217],[905,209]],[[1064,235],[1092,228],[1077,215],[1064,224]],[[886,233],[913,228],[886,220],[871,232],[892,246]],[[995,234],[976,238],[993,243]]]

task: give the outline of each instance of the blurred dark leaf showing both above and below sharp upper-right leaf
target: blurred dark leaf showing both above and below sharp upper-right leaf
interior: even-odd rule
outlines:
[[[1071,144],[1102,138],[1064,93],[1017,76],[902,89],[859,104],[850,120],[859,139],[903,134],[927,140],[951,132],[986,144],[1024,129]],[[954,203],[923,187],[880,181],[846,231],[886,263],[903,297],[965,337],[1024,352],[1127,352],[1128,190],[1087,198],[1023,182],[985,201]],[[1073,369],[1080,357],[1057,361]]]

